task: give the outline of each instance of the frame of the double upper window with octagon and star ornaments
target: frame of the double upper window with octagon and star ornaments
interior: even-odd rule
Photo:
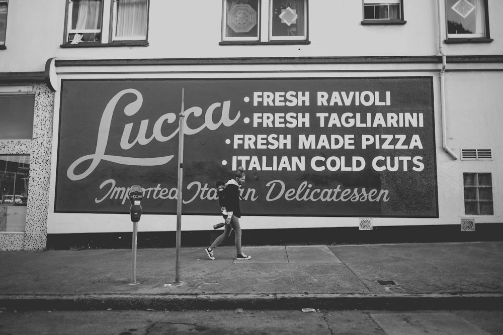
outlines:
[[[302,36],[272,36],[273,0],[258,0],[257,37],[227,37],[227,2],[222,0],[222,29],[220,45],[239,44],[310,44],[309,42],[309,0],[304,2],[304,32]],[[267,18],[267,21],[266,21]]]

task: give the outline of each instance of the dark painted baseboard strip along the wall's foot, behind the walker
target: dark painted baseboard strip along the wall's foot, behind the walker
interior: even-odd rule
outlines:
[[[205,247],[223,232],[182,232],[182,247]],[[303,228],[243,230],[243,246],[344,245],[378,243],[431,243],[503,241],[503,223],[477,224],[474,232],[462,232],[459,225],[374,227],[372,231],[350,228]],[[233,245],[234,235],[222,245]],[[132,233],[48,234],[48,250],[127,249]],[[174,248],[176,232],[139,232],[138,248]]]

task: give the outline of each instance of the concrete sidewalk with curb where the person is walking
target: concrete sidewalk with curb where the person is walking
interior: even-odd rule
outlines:
[[[0,252],[0,307],[501,309],[503,242]]]

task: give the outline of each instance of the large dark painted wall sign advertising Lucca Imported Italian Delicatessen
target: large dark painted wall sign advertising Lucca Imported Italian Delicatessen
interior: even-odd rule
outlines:
[[[246,170],[253,215],[438,217],[432,77],[63,80],[56,212],[218,212]]]

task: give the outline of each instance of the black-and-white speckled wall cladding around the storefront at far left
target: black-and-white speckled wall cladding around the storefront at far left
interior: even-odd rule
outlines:
[[[0,141],[0,155],[30,155],[25,233],[0,234],[0,250],[43,250],[46,247],[54,92],[45,83],[33,84],[33,91],[33,139]]]

